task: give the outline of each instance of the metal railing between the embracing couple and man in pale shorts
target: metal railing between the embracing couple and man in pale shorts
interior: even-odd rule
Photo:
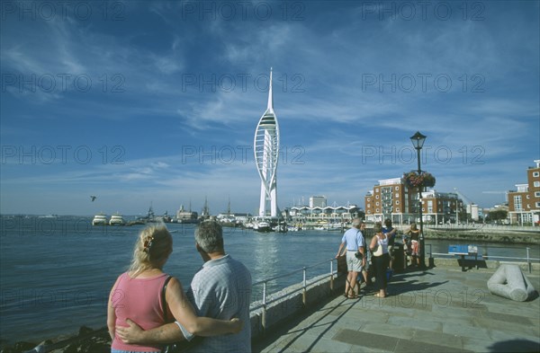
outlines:
[[[318,283],[318,282],[320,282],[322,280],[324,280],[324,278],[326,278],[326,276],[330,277],[330,291],[333,291],[334,290],[334,277],[338,274],[338,270],[337,270],[338,267],[336,266],[336,269],[334,269],[334,261],[337,261],[337,259],[322,260],[322,261],[314,263],[314,264],[312,264],[310,266],[304,266],[304,267],[302,267],[302,269],[295,269],[295,270],[293,270],[291,272],[287,272],[287,273],[284,273],[284,274],[281,274],[281,275],[278,275],[278,276],[275,276],[275,277],[271,277],[271,278],[265,278],[265,279],[262,279],[260,281],[257,281],[255,283],[253,283],[252,287],[256,287],[256,286],[260,286],[260,285],[263,286],[262,300],[251,304],[249,309],[250,309],[251,312],[253,312],[253,311],[257,310],[257,309],[262,308],[262,327],[263,327],[263,331],[266,331],[266,310],[268,308],[268,304],[272,304],[272,303],[274,303],[274,302],[276,302],[276,301],[278,301],[280,299],[283,299],[284,297],[291,296],[294,293],[302,291],[302,305],[305,307],[306,304],[307,304],[308,287],[313,285],[313,284],[316,284],[316,283]],[[329,262],[329,264],[330,264],[330,272],[329,273],[322,273],[322,274],[314,275],[314,277],[311,278],[311,281],[309,281],[308,280],[308,269],[313,269],[315,267],[319,267],[321,264],[327,263],[327,262]],[[291,276],[296,275],[296,274],[298,274],[300,272],[302,272],[302,287],[298,287],[296,289],[293,289],[291,292],[283,293],[280,296],[274,296],[273,297],[273,295],[279,294],[285,288],[276,289],[275,293],[273,293],[271,295],[268,294],[268,282],[272,282],[272,281],[275,281],[276,279],[280,279],[280,278],[291,277]],[[294,282],[294,281],[293,281],[293,283],[298,284],[298,282]],[[289,287],[287,287],[287,288],[289,288]]]

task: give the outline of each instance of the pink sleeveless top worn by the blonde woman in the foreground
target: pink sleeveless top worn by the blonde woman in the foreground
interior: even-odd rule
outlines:
[[[112,294],[112,307],[116,313],[116,326],[127,327],[126,319],[137,322],[143,330],[150,330],[165,323],[161,291],[168,275],[153,278],[130,278],[122,273]],[[158,346],[138,346],[123,343],[118,337],[112,340],[112,349],[131,351],[159,351]]]

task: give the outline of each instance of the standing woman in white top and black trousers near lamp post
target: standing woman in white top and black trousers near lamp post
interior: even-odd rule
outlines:
[[[369,249],[373,252],[372,262],[375,267],[375,288],[379,293],[375,296],[384,298],[388,296],[386,293],[386,269],[390,264],[390,255],[388,254],[388,235],[383,234],[383,225],[377,222],[374,225],[374,237],[369,245]]]

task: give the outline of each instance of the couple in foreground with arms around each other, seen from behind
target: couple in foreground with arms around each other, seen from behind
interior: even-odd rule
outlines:
[[[195,248],[204,264],[187,294],[163,272],[172,245],[165,225],[140,232],[130,269],[116,280],[109,298],[112,353],[160,352],[166,343],[195,335],[211,337],[191,351],[251,351],[251,275],[225,253],[221,225],[203,222],[195,230]],[[167,317],[175,322],[167,323]]]

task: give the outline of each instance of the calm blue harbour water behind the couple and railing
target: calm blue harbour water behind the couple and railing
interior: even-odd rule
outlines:
[[[109,291],[130,263],[142,225],[92,226],[91,217],[0,219],[0,339],[44,340],[74,333],[82,325],[105,325]],[[166,272],[188,287],[202,260],[194,250],[193,225],[168,224],[174,251]],[[339,232],[258,234],[224,228],[229,254],[244,262],[254,281],[329,260],[338,251]],[[429,242],[446,252],[450,241]],[[497,246],[497,245],[496,245]],[[525,245],[489,249],[491,256],[525,257]],[[479,249],[482,249],[479,246]],[[540,257],[531,247],[531,257]],[[329,263],[308,276],[329,272]],[[302,281],[302,272],[270,283],[271,289]],[[260,299],[255,288],[254,300]]]

